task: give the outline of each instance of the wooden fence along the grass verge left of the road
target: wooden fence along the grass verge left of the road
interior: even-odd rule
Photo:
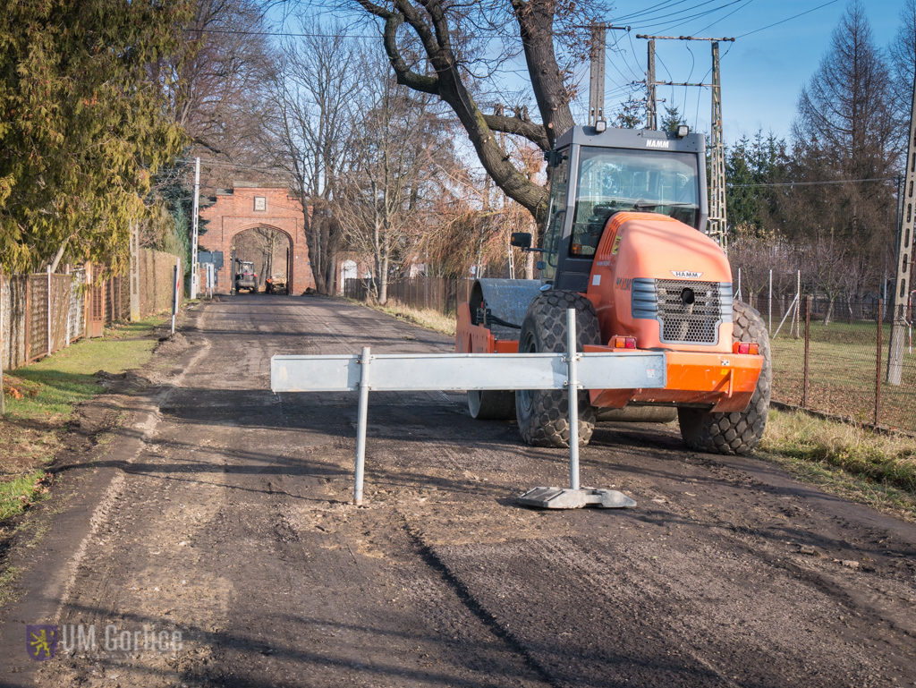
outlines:
[[[177,258],[142,249],[138,262],[140,317],[171,305],[173,267]],[[92,268],[90,267],[90,270]],[[92,284],[87,270],[69,274],[38,273],[0,278],[0,365],[4,370],[60,351],[87,336],[92,324],[104,325],[130,317],[127,276],[99,279]]]

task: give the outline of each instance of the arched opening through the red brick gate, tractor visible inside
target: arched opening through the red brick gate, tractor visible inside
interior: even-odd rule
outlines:
[[[292,285],[292,238],[267,224],[234,235],[232,256],[233,291],[288,294]]]

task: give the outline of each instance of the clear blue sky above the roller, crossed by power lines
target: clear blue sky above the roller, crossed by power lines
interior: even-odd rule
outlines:
[[[735,43],[721,43],[722,109],[725,142],[753,136],[758,129],[772,131],[778,137],[789,137],[802,85],[811,79],[824,53],[830,47],[831,34],[845,11],[846,0],[791,19],[775,27],[770,24],[824,5],[828,0],[618,0],[609,18],[615,26],[630,25],[625,32],[608,31],[605,67],[605,112],[626,99],[621,87],[643,79],[646,69],[647,41],[636,34],[714,38],[741,37]],[[649,8],[662,5],[656,10]],[[875,42],[887,48],[900,25],[903,0],[864,0]],[[693,9],[691,9],[693,8]],[[688,21],[680,17],[705,16]],[[617,19],[616,17],[621,17]],[[612,46],[615,49],[611,49]],[[707,42],[656,41],[656,77],[658,81],[709,83],[712,65]],[[670,75],[670,76],[669,76]],[[587,65],[583,68],[583,102],[577,121],[583,119],[588,105]],[[639,93],[644,87],[640,86]],[[621,97],[622,96],[622,97]],[[658,97],[678,106],[692,129],[708,131],[710,90],[708,88],[658,87]],[[659,105],[664,112],[666,104]]]

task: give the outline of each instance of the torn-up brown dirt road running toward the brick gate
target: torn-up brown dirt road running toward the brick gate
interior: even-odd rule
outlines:
[[[24,564],[60,581],[24,573],[0,683],[916,685],[911,525],[650,425],[601,425],[581,456],[638,508],[519,508],[566,454],[443,393],[372,395],[354,508],[354,395],[275,396],[270,356],[451,341],[283,296],[213,302],[185,334],[158,414],[97,463],[111,482]],[[27,623],[82,624],[86,647],[30,661]]]

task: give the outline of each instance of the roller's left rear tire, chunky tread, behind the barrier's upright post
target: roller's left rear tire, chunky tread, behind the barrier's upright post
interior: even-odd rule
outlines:
[[[592,301],[574,291],[551,289],[531,301],[522,322],[519,353],[564,353],[566,311],[576,311],[576,350],[601,344],[601,330]],[[525,442],[538,447],[569,447],[569,393],[565,389],[519,389],[515,393],[518,431]],[[588,390],[579,392],[579,445],[594,431],[594,409]]]

